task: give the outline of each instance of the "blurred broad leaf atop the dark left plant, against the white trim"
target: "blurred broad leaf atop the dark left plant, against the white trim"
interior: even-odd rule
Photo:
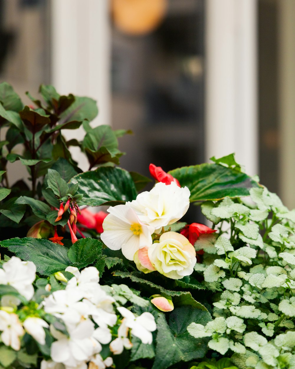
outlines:
[[[93,120],[98,114],[96,101],[90,97],[75,96],[75,101],[62,114],[60,114],[60,124],[72,121],[83,122]]]

